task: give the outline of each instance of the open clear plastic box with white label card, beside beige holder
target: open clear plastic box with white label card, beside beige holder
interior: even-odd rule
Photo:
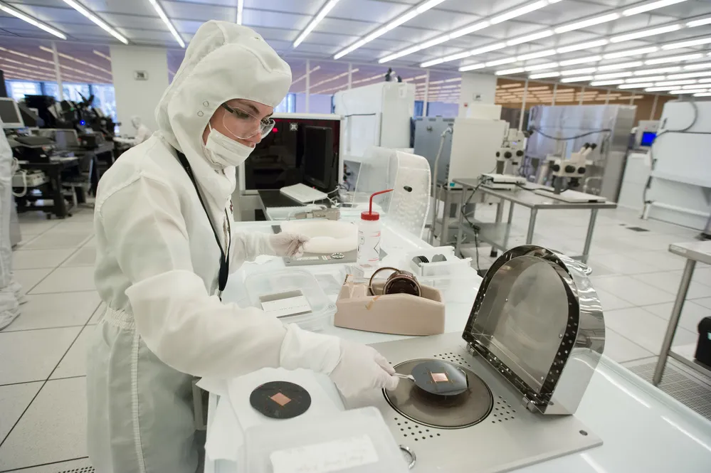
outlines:
[[[316,278],[304,270],[282,270],[247,275],[244,285],[252,307],[265,309],[264,302],[302,295],[310,310],[294,315],[278,316],[288,324],[298,324],[302,329],[323,330],[336,313],[336,304],[330,301]]]

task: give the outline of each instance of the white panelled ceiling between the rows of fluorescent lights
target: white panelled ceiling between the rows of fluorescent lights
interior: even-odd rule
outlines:
[[[621,7],[647,4],[651,0],[562,0],[545,6],[525,16],[498,23],[475,33],[460,36],[438,46],[416,51],[403,58],[386,64],[378,64],[378,59],[386,55],[409,48],[417,43],[441,36],[456,28],[490,18],[495,14],[508,11],[517,6],[531,4],[533,0],[445,0],[435,8],[416,16],[402,26],[384,33],[356,51],[338,61],[332,61],[333,55],[350,46],[379,26],[403,14],[422,0],[340,0],[334,9],[316,26],[305,41],[294,49],[293,41],[312,20],[326,0],[245,0],[243,24],[254,28],[280,55],[293,66],[293,76],[299,78],[305,73],[305,58],[311,59],[311,68],[319,66],[310,78],[311,92],[332,89],[343,85],[347,78],[339,78],[320,86],[323,80],[347,72],[347,63],[354,63],[359,71],[353,74],[353,80],[362,80],[384,73],[389,66],[396,68],[403,78],[416,77],[426,69],[420,64],[445,55],[468,51],[481,46],[488,46],[500,41],[560,26],[564,23],[579,21],[588,16],[598,16]],[[53,28],[68,36],[67,41],[58,40],[49,33],[31,26],[18,18],[0,13],[0,46],[16,51],[33,51],[32,54],[51,60],[51,54],[41,51],[38,46],[48,45],[48,40],[56,39],[60,51],[110,69],[109,61],[93,53],[98,50],[107,54],[107,45],[117,41],[87,18],[65,4],[62,0],[9,0],[16,9],[48,23]],[[236,21],[237,0],[172,0],[159,2],[167,16],[174,23],[181,38],[189,43],[192,35],[204,21],[219,19]],[[83,0],[83,4],[100,16],[110,26],[116,28],[130,43],[141,46],[162,46],[169,48],[169,69],[177,70],[183,57],[179,47],[167,26],[161,21],[148,0]],[[515,55],[522,55],[550,48],[559,48],[574,43],[594,41],[620,33],[636,31],[641,28],[663,26],[668,23],[699,18],[711,14],[711,1],[689,0],[672,6],[620,18],[616,21],[582,28],[576,31],[556,34],[517,46],[502,48],[483,53],[475,58],[465,58],[436,65],[432,75],[441,75],[441,80],[459,75],[458,68],[472,63],[482,63]],[[711,36],[711,25],[697,28],[682,28],[679,31],[663,33],[624,43],[610,43],[599,48],[552,55],[546,58],[529,60],[526,63],[512,63],[505,66],[485,68],[480,72],[493,73],[497,69],[516,68],[524,65],[536,65],[587,55],[609,53],[613,51],[660,45],[685,38]],[[40,40],[40,41],[38,41]],[[703,51],[709,45],[663,51],[647,55],[617,60],[631,61],[654,58],[670,54],[683,54]],[[0,50],[0,58],[7,53]],[[615,62],[615,61],[608,61]],[[88,73],[106,76],[95,68],[81,65],[72,60],[60,59],[66,64]],[[583,66],[574,66],[579,68]],[[70,73],[69,70],[63,72]],[[450,71],[447,73],[446,71]],[[526,74],[527,75],[527,74]],[[522,75],[525,77],[525,75]],[[110,76],[107,77],[110,79]],[[431,80],[433,80],[431,78]],[[417,80],[415,82],[421,82]],[[305,80],[296,83],[292,91],[305,89]],[[330,93],[330,92],[327,92]]]

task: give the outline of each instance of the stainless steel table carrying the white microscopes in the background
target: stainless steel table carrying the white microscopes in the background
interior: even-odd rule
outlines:
[[[471,191],[477,188],[479,184],[479,179],[454,179],[455,184],[462,186],[462,195],[460,206],[464,206],[468,196],[470,196]],[[536,187],[527,188],[517,188],[513,191],[502,191],[499,189],[492,189],[485,186],[479,186],[477,192],[483,193],[485,195],[499,199],[496,204],[496,221],[494,223],[485,223],[473,220],[473,223],[480,228],[477,232],[476,238],[478,240],[488,243],[492,248],[506,251],[509,250],[508,238],[511,232],[511,221],[513,219],[513,209],[514,205],[523,206],[530,209],[531,218],[528,221],[528,231],[526,233],[526,244],[530,245],[533,243],[533,233],[536,227],[536,217],[539,210],[589,210],[590,211],[590,222],[588,224],[588,231],[585,237],[585,244],[583,248],[583,254],[579,256],[571,256],[582,262],[587,262],[588,255],[590,253],[590,244],[592,242],[593,230],[595,229],[595,220],[597,218],[597,211],[601,208],[617,208],[617,203],[615,202],[565,202],[559,201],[554,198],[541,196],[534,193]],[[509,215],[506,223],[502,223],[503,217],[503,203],[505,201],[510,202]],[[459,213],[459,230],[457,233],[457,245],[456,251],[460,253],[460,245],[464,238],[464,235],[474,237],[475,230],[465,223],[464,213]],[[473,216],[473,213],[472,213]],[[471,219],[470,219],[471,220]]]

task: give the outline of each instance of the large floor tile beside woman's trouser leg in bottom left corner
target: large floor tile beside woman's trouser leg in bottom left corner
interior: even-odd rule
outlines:
[[[85,457],[86,378],[48,381],[0,447],[0,470]]]

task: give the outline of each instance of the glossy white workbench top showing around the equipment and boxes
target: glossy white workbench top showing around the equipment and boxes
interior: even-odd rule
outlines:
[[[273,223],[239,223],[241,230],[270,232]],[[390,255],[431,248],[422,240],[394,232],[384,225],[383,248]],[[267,263],[283,267],[275,260]],[[333,265],[335,267],[336,265]],[[323,270],[324,266],[301,267]],[[234,279],[234,278],[233,278]],[[461,332],[469,317],[480,278],[472,271],[473,292],[468,303],[447,305],[446,332]],[[226,301],[240,299],[239,282],[228,283]],[[345,339],[372,344],[407,338],[389,334],[339,329],[325,330]],[[342,401],[334,395],[335,403]],[[211,395],[209,412],[220,398]],[[238,413],[239,415],[239,413]],[[604,444],[584,452],[552,459],[517,470],[524,473],[709,473],[711,471],[711,422],[677,400],[646,383],[626,368],[603,356],[576,412]],[[208,430],[211,421],[209,418]],[[462,455],[476,455],[476,445]],[[417,471],[417,469],[415,469]],[[233,462],[206,459],[205,473],[243,473]],[[430,473],[430,472],[421,472]]]

